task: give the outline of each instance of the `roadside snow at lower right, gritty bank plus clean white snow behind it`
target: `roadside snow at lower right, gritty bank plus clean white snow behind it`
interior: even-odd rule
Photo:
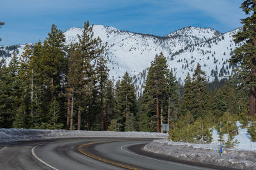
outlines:
[[[239,143],[232,149],[224,148],[221,157],[218,131],[215,129],[212,131],[212,143],[209,144],[181,143],[159,139],[145,145],[143,150],[192,162],[237,169],[256,169],[256,142],[252,142],[247,129],[242,129],[239,122],[237,122],[237,127],[239,127],[239,134],[235,139]]]

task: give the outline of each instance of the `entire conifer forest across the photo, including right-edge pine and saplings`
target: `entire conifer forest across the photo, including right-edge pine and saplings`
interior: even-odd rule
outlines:
[[[107,44],[93,38],[93,25],[85,22],[79,41],[67,45],[53,24],[44,41],[27,44],[8,64],[1,60],[0,128],[166,133],[168,124],[172,141],[204,144],[222,122],[220,138],[227,134],[231,148],[239,121],[256,141],[255,1],[241,8],[248,17],[234,36],[243,45],[228,60],[237,66],[232,76],[209,81],[197,63],[181,84],[161,52],[147,69],[142,93],[128,72],[118,80],[109,76]]]

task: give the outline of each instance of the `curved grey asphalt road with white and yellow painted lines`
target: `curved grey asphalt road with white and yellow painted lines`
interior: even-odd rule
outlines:
[[[152,139],[65,138],[0,143],[0,169],[209,169],[140,147]]]

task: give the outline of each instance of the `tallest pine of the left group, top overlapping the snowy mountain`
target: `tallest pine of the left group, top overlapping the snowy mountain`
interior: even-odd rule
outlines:
[[[99,88],[97,87],[95,60],[102,55],[106,45],[102,45],[102,41],[99,37],[93,38],[93,25],[90,26],[89,22],[84,22],[83,34],[81,36],[78,35],[78,38],[78,47],[79,50],[81,50],[81,57],[83,59],[85,80],[83,85],[84,94],[83,96],[79,94],[78,98],[84,98],[86,101],[86,103],[84,103],[84,108],[86,108],[84,112],[86,112],[86,114],[83,117],[86,119],[88,130],[91,130],[93,122],[97,119],[96,113],[99,113]],[[81,111],[79,111],[78,116],[78,129],[80,129],[81,125],[80,115]]]

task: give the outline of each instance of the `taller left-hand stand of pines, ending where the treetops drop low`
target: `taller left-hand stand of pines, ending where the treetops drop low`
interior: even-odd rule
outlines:
[[[106,130],[113,83],[105,44],[84,23],[79,42],[66,45],[56,25],[44,42],[26,45],[8,66],[0,62],[0,127]],[[103,117],[104,116],[104,117]],[[99,118],[100,117],[100,118]]]

